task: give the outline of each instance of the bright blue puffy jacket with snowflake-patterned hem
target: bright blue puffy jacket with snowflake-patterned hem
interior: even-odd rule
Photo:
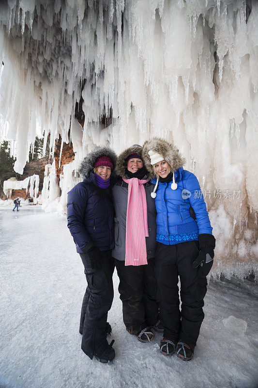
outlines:
[[[196,176],[180,167],[175,172],[175,181],[176,190],[170,187],[172,181],[158,183],[155,198],[157,236],[192,234],[192,240],[197,240],[198,234],[212,234],[212,226]],[[156,179],[151,182],[155,184]],[[196,220],[190,215],[190,207],[195,211]]]

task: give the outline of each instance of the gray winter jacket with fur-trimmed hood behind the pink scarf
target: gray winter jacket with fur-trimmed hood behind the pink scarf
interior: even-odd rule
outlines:
[[[124,161],[130,154],[140,154],[141,148],[135,146],[126,149],[118,158],[116,173],[120,176],[116,184],[112,188],[115,208],[115,249],[112,250],[112,256],[115,259],[125,260],[125,234],[126,234],[126,213],[127,213],[127,197],[128,197],[128,183],[124,182],[122,178],[125,176]],[[144,179],[148,179],[146,177]],[[147,221],[149,237],[146,237],[147,259],[154,258],[156,246],[156,207],[155,200],[151,197],[153,185],[150,182],[144,185],[146,200],[147,200]]]

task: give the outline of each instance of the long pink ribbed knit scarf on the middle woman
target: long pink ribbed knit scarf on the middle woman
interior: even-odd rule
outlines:
[[[146,179],[124,179],[128,183],[125,265],[148,264],[145,237],[149,236],[147,201],[143,184]]]

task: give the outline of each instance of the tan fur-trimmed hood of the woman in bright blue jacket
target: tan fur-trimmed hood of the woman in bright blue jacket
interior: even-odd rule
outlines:
[[[186,162],[185,158],[182,157],[177,147],[168,143],[164,139],[153,137],[151,140],[146,140],[142,146],[142,159],[145,167],[150,173],[151,178],[153,178],[155,175],[153,173],[151,159],[148,154],[150,150],[153,150],[162,155],[165,161],[170,165],[172,171],[178,170]]]

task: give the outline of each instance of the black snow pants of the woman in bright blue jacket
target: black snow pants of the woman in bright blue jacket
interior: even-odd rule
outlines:
[[[159,316],[164,326],[164,338],[196,345],[201,323],[204,319],[204,296],[207,280],[199,282],[198,268],[192,263],[199,253],[197,241],[180,242],[175,245],[157,243],[155,276]],[[178,289],[180,277],[181,311]]]

